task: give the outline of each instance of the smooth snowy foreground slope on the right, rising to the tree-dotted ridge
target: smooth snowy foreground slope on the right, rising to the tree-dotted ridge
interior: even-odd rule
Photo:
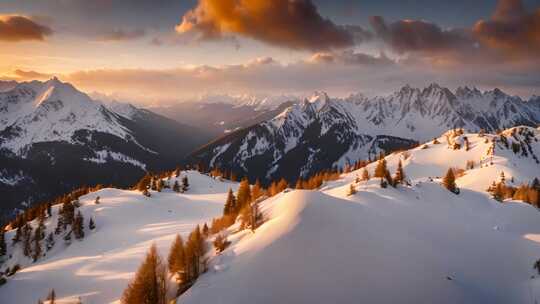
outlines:
[[[540,139],[538,130],[525,129]],[[485,137],[466,136],[469,151],[446,143],[409,151],[410,187],[382,189],[371,179],[347,196],[358,171],[321,191],[290,190],[264,201],[266,222],[230,236],[233,245],[177,303],[536,303],[540,213],[501,204],[484,186],[501,170],[530,181],[540,165],[501,148],[493,165],[457,180],[455,195],[428,177],[485,155]],[[387,157],[391,170],[398,157]]]

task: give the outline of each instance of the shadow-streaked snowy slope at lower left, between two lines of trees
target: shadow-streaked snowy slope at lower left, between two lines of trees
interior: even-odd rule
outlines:
[[[15,252],[10,248],[9,254],[14,257],[1,268],[19,263],[23,269],[0,287],[0,302],[35,303],[51,288],[59,298],[81,297],[84,303],[117,301],[151,243],[167,254],[177,233],[186,236],[195,225],[221,214],[227,191],[237,188],[235,183],[219,182],[192,171],[182,172],[179,182],[185,174],[190,181],[185,194],[166,189],[152,191],[147,198],[137,191],[109,188],[81,197],[85,238],[73,240],[66,247],[56,236],[48,257],[37,263],[22,256],[20,244]],[[96,196],[100,196],[98,205],[94,204]],[[54,230],[57,213],[54,207],[53,217],[46,222],[48,232]],[[90,217],[96,222],[94,231],[88,230]],[[12,237],[13,232],[6,234],[7,240]]]

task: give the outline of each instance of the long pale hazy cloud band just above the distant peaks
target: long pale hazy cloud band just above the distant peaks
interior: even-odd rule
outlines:
[[[394,62],[384,54],[320,52],[283,64],[261,57],[244,64],[174,69],[100,69],[59,75],[87,92],[99,91],[141,104],[177,102],[204,94],[309,94],[324,90],[346,96],[354,92],[385,94],[410,84],[431,82],[455,88],[499,87],[510,93],[540,95],[540,70],[529,64],[486,65],[481,69],[438,68],[424,62]]]

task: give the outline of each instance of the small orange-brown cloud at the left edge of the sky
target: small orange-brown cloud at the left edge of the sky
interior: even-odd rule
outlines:
[[[32,18],[18,15],[0,15],[0,41],[19,42],[45,40],[53,31]]]

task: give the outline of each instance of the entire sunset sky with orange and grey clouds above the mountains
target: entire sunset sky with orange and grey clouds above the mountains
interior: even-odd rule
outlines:
[[[0,0],[0,80],[205,94],[540,95],[540,0]]]

